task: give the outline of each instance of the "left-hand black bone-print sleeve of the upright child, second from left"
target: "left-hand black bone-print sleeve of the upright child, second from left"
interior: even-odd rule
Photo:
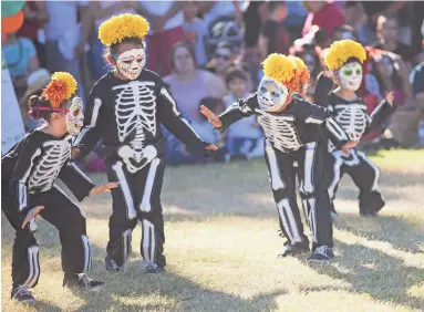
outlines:
[[[104,95],[101,96],[101,86],[94,85],[90,92],[87,105],[84,113],[84,127],[74,142],[74,147],[80,148],[79,158],[90,154],[103,135],[106,125],[104,121]],[[103,92],[104,94],[104,92]]]

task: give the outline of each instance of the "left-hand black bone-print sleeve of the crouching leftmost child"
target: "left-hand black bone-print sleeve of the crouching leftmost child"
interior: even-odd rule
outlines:
[[[18,152],[18,160],[9,183],[10,197],[19,212],[24,212],[38,206],[38,197],[29,194],[28,180],[35,160],[42,154],[42,142],[34,135],[27,135]]]

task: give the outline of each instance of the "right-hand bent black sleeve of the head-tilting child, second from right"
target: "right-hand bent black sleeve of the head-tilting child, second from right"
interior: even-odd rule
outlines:
[[[321,125],[321,131],[337,148],[341,148],[350,141],[343,127],[332,117],[331,111],[306,101],[297,101],[296,105],[297,117],[306,124]]]

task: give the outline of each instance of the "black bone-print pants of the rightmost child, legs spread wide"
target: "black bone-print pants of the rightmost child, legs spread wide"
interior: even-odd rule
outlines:
[[[373,164],[365,154],[358,150],[351,150],[351,155],[345,156],[341,150],[331,153],[332,175],[329,186],[329,196],[331,209],[334,210],[333,200],[339,187],[339,183],[344,174],[351,176],[353,183],[358,186],[359,208],[361,212],[378,212],[385,202],[379,189],[380,169]]]

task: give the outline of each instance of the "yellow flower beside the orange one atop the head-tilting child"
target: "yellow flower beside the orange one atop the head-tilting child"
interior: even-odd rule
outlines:
[[[285,54],[272,53],[262,62],[263,74],[296,91],[296,65]]]

